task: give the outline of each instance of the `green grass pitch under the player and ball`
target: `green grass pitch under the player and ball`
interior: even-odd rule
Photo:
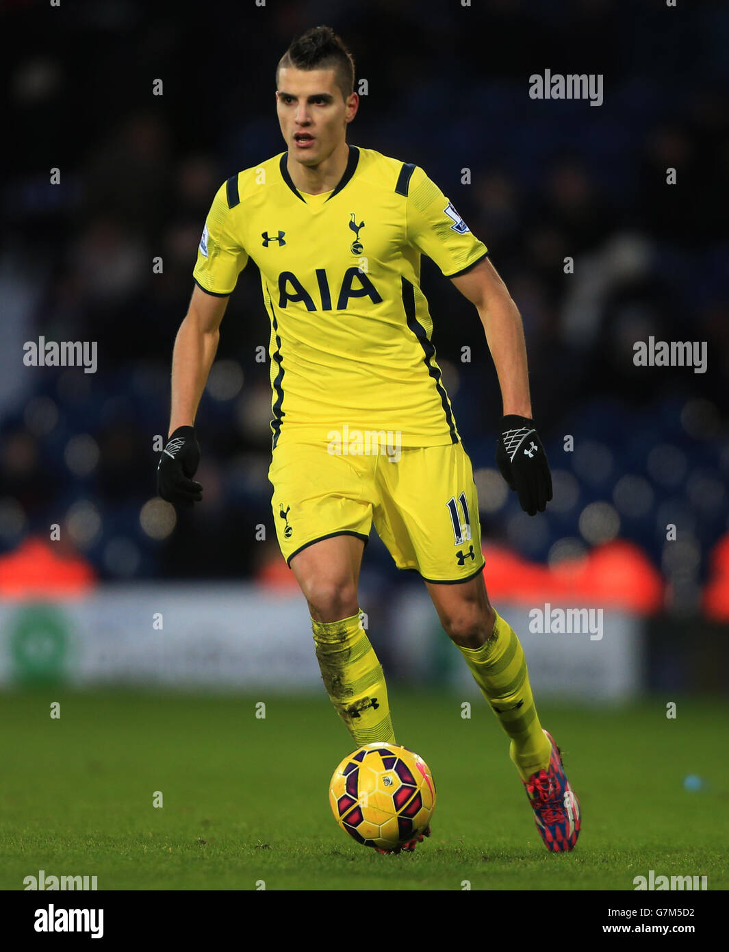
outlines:
[[[653,869],[726,889],[729,706],[677,703],[675,720],[662,699],[539,704],[583,814],[575,851],[552,855],[483,701],[463,720],[461,699],[391,687],[438,803],[430,840],[381,856],[331,816],[328,781],[354,744],[324,694],[0,695],[0,888],[44,869],[99,889],[632,890]],[[704,787],[684,789],[688,774]]]

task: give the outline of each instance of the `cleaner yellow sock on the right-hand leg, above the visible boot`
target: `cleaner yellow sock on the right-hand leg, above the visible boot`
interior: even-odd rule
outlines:
[[[461,649],[483,697],[511,738],[509,756],[522,780],[549,767],[551,744],[537,716],[526,659],[516,632],[495,611],[491,635],[478,648]]]

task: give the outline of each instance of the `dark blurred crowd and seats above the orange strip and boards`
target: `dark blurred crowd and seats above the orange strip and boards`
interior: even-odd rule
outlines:
[[[252,263],[198,413],[203,506],[175,515],[155,498],[155,438],[167,435],[171,349],[212,196],[283,150],[276,62],[294,35],[329,23],[367,81],[348,141],[421,165],[522,312],[555,477],[554,503],[532,520],[494,467],[501,400],[478,315],[424,263],[484,535],[542,563],[630,539],[697,604],[729,516],[726,10],[247,6],[183,5],[169,18],[97,0],[53,24],[7,5],[26,39],[4,66],[20,145],[3,189],[0,550],[58,524],[102,579],[239,578],[281,560]],[[530,99],[529,75],[546,68],[603,73],[601,107]],[[40,335],[98,342],[97,372],[25,366],[23,345]],[[705,341],[707,371],[636,367],[634,343],[651,335]],[[668,524],[680,545],[667,546]],[[396,572],[378,543],[368,560]]]

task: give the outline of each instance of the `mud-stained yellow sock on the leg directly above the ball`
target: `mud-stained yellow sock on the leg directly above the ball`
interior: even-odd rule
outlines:
[[[312,618],[316,656],[329,698],[355,744],[395,744],[383,667],[362,617],[359,612],[341,622]]]

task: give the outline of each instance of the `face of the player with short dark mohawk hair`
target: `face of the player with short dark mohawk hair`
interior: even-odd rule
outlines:
[[[276,111],[289,154],[319,165],[344,141],[357,102],[356,92],[345,102],[334,69],[280,69]]]

